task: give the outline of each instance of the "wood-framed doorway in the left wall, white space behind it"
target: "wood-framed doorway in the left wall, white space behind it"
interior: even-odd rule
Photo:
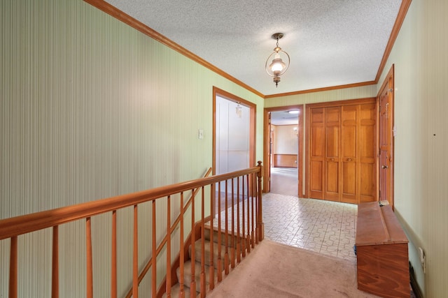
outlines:
[[[213,107],[213,174],[225,174],[255,166],[256,105],[214,87]],[[218,186],[216,187],[218,191]],[[239,187],[242,193],[243,185]],[[223,182],[221,198],[225,198],[225,189]],[[231,192],[232,189],[228,188],[228,193]],[[222,210],[224,206],[225,200],[221,199],[219,209]]]

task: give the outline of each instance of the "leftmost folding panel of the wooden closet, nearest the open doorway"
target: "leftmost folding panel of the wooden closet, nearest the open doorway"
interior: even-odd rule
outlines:
[[[311,109],[309,117],[309,195],[310,198],[323,199],[324,109]]]

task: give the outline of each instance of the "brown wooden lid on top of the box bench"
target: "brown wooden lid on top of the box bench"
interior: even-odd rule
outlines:
[[[378,202],[358,204],[356,246],[407,243],[400,222],[388,205]]]

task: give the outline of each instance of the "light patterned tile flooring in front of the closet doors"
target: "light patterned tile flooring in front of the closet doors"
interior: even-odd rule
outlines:
[[[356,262],[355,204],[263,195],[265,238]]]

